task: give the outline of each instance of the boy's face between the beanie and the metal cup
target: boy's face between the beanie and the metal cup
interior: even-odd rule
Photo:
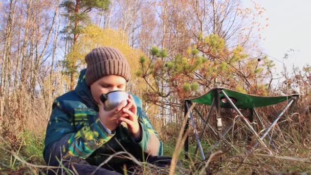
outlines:
[[[126,80],[117,75],[104,76],[91,84],[91,94],[93,99],[99,104],[101,94],[111,91],[125,91]]]

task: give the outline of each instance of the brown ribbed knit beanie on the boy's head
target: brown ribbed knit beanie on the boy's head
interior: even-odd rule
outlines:
[[[129,64],[120,50],[116,48],[95,48],[85,56],[85,61],[87,85],[91,85],[106,75],[118,75],[126,81],[130,78]]]

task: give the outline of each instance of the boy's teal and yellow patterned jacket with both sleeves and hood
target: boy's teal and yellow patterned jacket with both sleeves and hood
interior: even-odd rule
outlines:
[[[53,102],[43,150],[47,164],[55,165],[63,156],[73,156],[85,159],[91,165],[99,165],[110,155],[124,149],[140,160],[147,155],[161,156],[163,146],[158,133],[142,110],[141,100],[132,96],[142,128],[139,142],[131,137],[126,125],[119,125],[111,134],[107,132],[98,118],[98,106],[90,87],[86,85],[85,69],[82,70],[75,90]],[[122,164],[124,159],[113,158],[110,162]]]

